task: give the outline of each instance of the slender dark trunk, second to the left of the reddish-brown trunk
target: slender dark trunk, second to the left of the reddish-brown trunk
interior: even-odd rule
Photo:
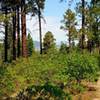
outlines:
[[[13,60],[16,60],[16,9],[13,9]]]

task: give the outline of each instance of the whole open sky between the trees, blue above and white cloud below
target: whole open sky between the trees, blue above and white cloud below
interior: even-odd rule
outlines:
[[[71,1],[71,0],[69,0]],[[77,0],[79,1],[79,0]],[[71,9],[74,10],[76,0],[71,2]],[[56,42],[67,41],[66,33],[60,29],[61,20],[63,19],[63,14],[68,9],[67,2],[60,2],[60,0],[46,0],[45,9],[43,11],[44,19],[46,23],[42,20],[42,36],[44,37],[47,31],[51,31],[56,39]],[[29,16],[27,19],[30,19]],[[38,33],[38,18],[34,17],[27,21],[27,28],[31,31],[33,40],[39,41]]]

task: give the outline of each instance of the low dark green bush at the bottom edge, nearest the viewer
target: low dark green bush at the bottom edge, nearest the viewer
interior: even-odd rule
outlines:
[[[41,100],[71,100],[71,96],[68,93],[64,93],[62,89],[57,86],[54,86],[50,83],[46,83],[41,86],[32,85],[26,90],[21,91],[17,98],[28,99],[41,99]]]

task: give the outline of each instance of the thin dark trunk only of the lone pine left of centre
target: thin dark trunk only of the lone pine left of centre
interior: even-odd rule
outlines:
[[[41,29],[41,12],[40,7],[38,7],[38,18],[39,18],[39,35],[40,35],[40,54],[42,54],[42,29]]]

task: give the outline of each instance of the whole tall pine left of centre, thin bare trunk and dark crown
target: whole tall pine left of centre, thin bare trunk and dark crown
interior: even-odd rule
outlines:
[[[42,26],[41,18],[43,18],[42,11],[44,9],[45,0],[29,0],[29,12],[32,16],[38,15],[39,22],[39,36],[40,36],[40,54],[42,54]]]

